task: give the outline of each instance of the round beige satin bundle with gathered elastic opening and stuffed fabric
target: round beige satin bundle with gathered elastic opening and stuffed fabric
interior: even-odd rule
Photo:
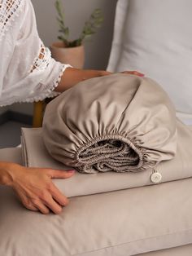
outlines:
[[[175,109],[150,78],[114,74],[80,82],[46,108],[50,155],[82,173],[154,169],[177,150]]]

